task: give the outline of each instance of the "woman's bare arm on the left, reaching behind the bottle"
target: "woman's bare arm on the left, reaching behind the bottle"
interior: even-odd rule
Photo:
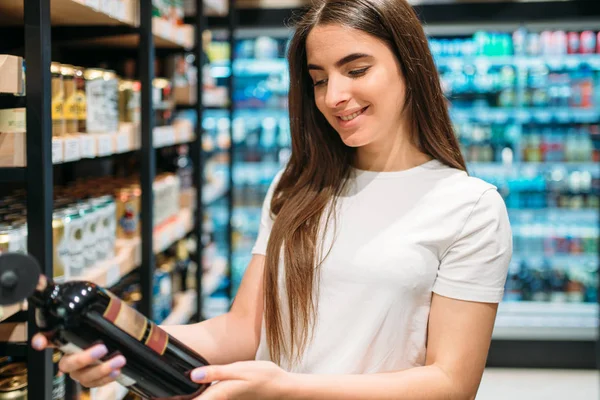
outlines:
[[[263,315],[264,260],[262,255],[252,256],[228,313],[197,324],[161,328],[211,364],[254,360]]]

